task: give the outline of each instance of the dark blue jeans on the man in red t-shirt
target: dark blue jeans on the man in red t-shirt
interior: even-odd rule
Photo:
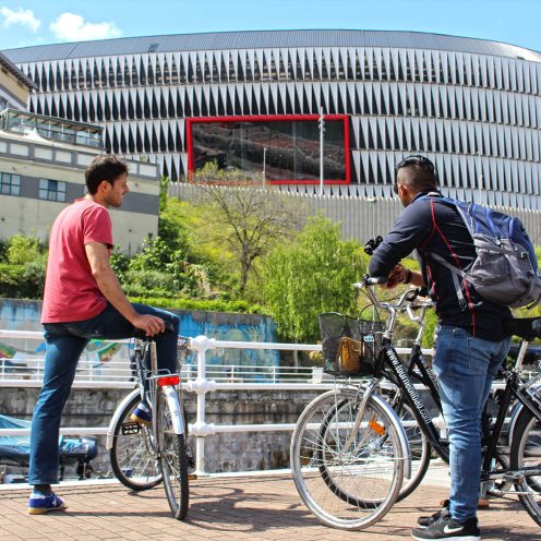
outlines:
[[[173,332],[156,344],[158,366],[177,371],[179,317],[165,310],[133,304],[140,314],[152,314],[173,325]],[[134,327],[111,304],[96,317],[73,323],[47,323],[45,339],[44,386],[34,408],[31,433],[29,484],[58,482],[58,438],[60,418],[70,396],[75,369],[83,349],[92,338],[123,339],[133,336]]]

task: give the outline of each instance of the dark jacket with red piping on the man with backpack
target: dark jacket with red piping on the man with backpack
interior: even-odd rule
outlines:
[[[476,257],[466,225],[454,206],[442,203],[437,195],[420,200],[422,195],[425,194],[419,194],[402,211],[393,230],[374,251],[370,274],[388,276],[400,260],[417,250],[440,323],[462,327],[485,340],[503,340],[506,337],[503,320],[510,316],[509,310],[483,299],[465,281],[466,305],[460,305],[450,270],[430,257],[436,253],[453,265],[466,268]]]

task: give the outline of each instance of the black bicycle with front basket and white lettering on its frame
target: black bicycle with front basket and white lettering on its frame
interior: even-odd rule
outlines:
[[[354,340],[358,342],[357,371],[370,373],[372,380],[365,386],[362,383],[354,387],[345,384],[313,400],[301,414],[291,442],[291,468],[299,494],[321,521],[342,529],[363,529],[381,519],[396,502],[402,477],[408,478],[411,471],[404,428],[396,426],[395,410],[375,393],[384,377],[401,390],[405,404],[428,442],[448,461],[448,442],[434,426],[409,370],[392,342],[397,313],[407,299],[417,296],[417,291],[404,292],[395,304],[383,303],[370,288],[378,282],[383,279],[365,277],[356,285],[366,290],[375,306],[389,312],[376,347],[366,348],[366,344],[377,341],[377,332],[364,337],[361,334]],[[490,437],[483,442],[481,480],[498,483],[497,495],[517,495],[532,519],[541,525],[541,396],[538,387],[541,375],[524,381],[520,374],[528,341],[541,337],[541,318],[513,320],[508,332],[521,337],[521,353],[514,368],[503,369],[506,386]],[[348,330],[340,334],[335,338],[336,344],[330,345],[335,356],[325,358],[329,363],[338,364],[340,375],[350,375],[344,370],[348,368],[344,363],[348,360],[344,354],[344,342],[351,339],[352,334]],[[323,349],[325,354],[325,344]],[[522,408],[515,423],[510,448],[502,448],[498,446],[502,428],[513,400]],[[378,467],[380,491],[375,495],[369,494],[366,489],[375,476],[366,467],[370,462]]]

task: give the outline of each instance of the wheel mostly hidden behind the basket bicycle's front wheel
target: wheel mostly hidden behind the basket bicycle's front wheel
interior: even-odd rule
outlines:
[[[411,477],[409,479],[404,478],[402,486],[397,498],[397,502],[400,502],[421,484],[430,466],[432,446],[423,431],[419,428],[419,423],[410,406],[402,404],[399,408],[394,409],[402,423],[411,453]]]

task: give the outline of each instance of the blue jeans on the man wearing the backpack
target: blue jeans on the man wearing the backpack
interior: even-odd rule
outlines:
[[[449,434],[450,515],[465,521],[477,515],[481,480],[481,413],[492,382],[507,356],[509,338],[489,341],[441,325],[434,370]]]

